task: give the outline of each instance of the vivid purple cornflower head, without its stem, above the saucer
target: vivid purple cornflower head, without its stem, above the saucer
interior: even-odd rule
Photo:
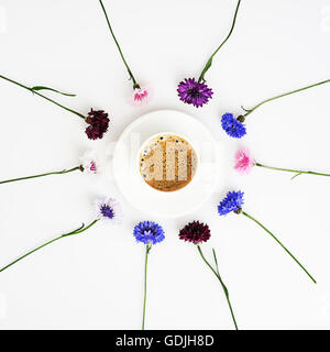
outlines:
[[[186,103],[193,103],[194,107],[199,108],[212,98],[213,91],[206,84],[198,82],[195,78],[185,78],[177,87],[180,100]]]

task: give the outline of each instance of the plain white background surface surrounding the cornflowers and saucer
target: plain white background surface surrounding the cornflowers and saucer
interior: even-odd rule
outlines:
[[[195,213],[150,219],[130,207],[116,185],[79,173],[0,187],[0,265],[26,250],[94,219],[98,195],[122,201],[122,227],[97,224],[62,240],[0,274],[1,329],[140,329],[144,248],[132,230],[158,221],[166,241],[150,255],[146,328],[232,329],[213,275],[193,244],[178,240],[187,221],[209,223],[204,244],[230,292],[241,329],[330,328],[330,178],[255,168],[248,177],[232,169],[239,145],[256,161],[282,167],[330,172],[330,85],[271,102],[248,121],[237,141],[220,127],[224,112],[240,113],[274,95],[330,78],[330,1],[242,1],[230,41],[206,78],[215,90],[202,109],[182,103],[184,77],[198,76],[228,34],[233,0],[105,0],[128,62],[141,84],[155,91],[147,107],[127,103],[131,82],[97,0],[1,0],[1,74],[26,85],[76,92],[53,96],[87,113],[110,113],[102,141],[89,141],[74,114],[0,81],[1,179],[76,166],[86,148],[100,152],[139,116],[156,109],[193,114],[227,151],[226,187]],[[189,127],[187,127],[188,129]],[[278,235],[317,278],[314,285],[292,258],[249,219],[217,216],[230,189],[245,191],[244,210]]]

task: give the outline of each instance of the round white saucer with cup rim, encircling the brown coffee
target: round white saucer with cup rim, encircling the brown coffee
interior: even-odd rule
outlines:
[[[150,136],[168,131],[187,138],[199,155],[199,163],[189,185],[165,193],[153,189],[142,179],[136,155]],[[201,122],[179,111],[158,110],[142,116],[123,131],[112,165],[118,188],[133,207],[150,216],[175,218],[199,208],[223,182],[221,160],[219,145]]]

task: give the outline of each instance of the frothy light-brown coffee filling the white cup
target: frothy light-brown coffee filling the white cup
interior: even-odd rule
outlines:
[[[183,138],[162,134],[145,144],[139,163],[141,176],[151,187],[174,191],[191,182],[196,174],[197,155]]]

